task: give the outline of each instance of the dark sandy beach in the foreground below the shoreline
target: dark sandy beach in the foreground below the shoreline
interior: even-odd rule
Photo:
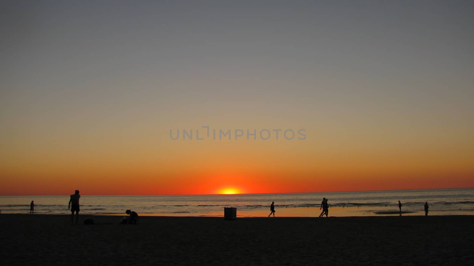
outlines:
[[[474,216],[120,218],[0,214],[1,264],[474,265]]]

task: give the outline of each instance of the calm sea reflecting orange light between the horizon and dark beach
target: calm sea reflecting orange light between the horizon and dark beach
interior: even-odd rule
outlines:
[[[264,216],[275,202],[275,216],[318,216],[323,197],[328,198],[329,216],[366,216],[389,214],[403,204],[403,215],[424,215],[428,202],[429,215],[474,215],[474,188],[284,193],[239,195],[82,195],[81,214],[124,214],[131,209],[139,215],[159,216],[223,216],[224,207],[237,207],[237,216]],[[69,195],[64,196],[0,196],[1,213],[29,213],[35,201],[35,213],[69,213]],[[397,215],[397,214],[395,214]]]

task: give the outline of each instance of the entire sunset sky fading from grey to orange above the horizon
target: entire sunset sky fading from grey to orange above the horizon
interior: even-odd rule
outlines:
[[[474,187],[473,25],[473,1],[1,1],[0,195]],[[203,125],[307,138],[170,138]]]

